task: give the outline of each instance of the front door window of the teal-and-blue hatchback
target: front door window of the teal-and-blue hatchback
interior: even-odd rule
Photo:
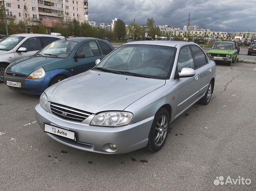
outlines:
[[[100,50],[95,41],[90,41],[82,44],[76,54],[84,54],[86,58],[100,55]]]

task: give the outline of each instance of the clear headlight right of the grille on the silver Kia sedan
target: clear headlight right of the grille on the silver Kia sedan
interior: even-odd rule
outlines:
[[[116,127],[128,125],[133,118],[133,114],[126,111],[110,111],[96,115],[91,122],[91,125]]]

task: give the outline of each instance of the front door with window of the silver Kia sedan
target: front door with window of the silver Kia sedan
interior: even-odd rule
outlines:
[[[194,58],[189,46],[184,46],[180,49],[176,73],[180,72],[182,68],[195,68]],[[177,84],[178,96],[176,116],[188,108],[199,95],[199,73],[195,70],[196,74],[193,77],[176,78],[174,81]]]

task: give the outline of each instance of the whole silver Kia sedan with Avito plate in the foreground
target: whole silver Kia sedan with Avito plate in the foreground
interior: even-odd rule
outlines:
[[[130,42],[45,90],[36,119],[52,139],[77,149],[156,152],[174,119],[210,102],[215,70],[192,42]]]

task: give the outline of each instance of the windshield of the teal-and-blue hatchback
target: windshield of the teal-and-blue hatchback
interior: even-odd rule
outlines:
[[[69,40],[57,40],[48,44],[45,48],[40,50],[37,55],[55,58],[68,58],[77,43],[78,42]]]

